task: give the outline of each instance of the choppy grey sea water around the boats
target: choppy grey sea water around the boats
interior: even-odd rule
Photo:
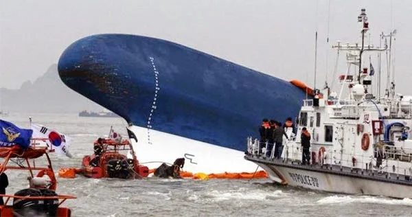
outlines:
[[[29,117],[73,138],[73,158],[50,155],[56,176],[59,168],[80,168],[82,157],[93,152],[93,141],[107,136],[111,126],[126,137],[126,122],[117,117],[10,113],[0,118],[28,128]],[[26,177],[10,174],[6,192],[14,194],[27,187]],[[275,185],[268,179],[119,180],[76,176],[58,178],[56,192],[78,197],[63,203],[72,209],[72,216],[412,216],[409,198],[315,192]]]

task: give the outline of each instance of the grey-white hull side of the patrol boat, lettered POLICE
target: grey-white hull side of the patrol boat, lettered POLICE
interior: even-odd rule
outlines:
[[[299,165],[283,163],[278,160],[267,161],[253,157],[245,157],[263,168],[269,179],[278,183],[311,190],[334,192],[342,194],[366,194],[374,196],[389,196],[393,198],[412,198],[412,182],[404,176],[372,172],[371,170],[352,170],[339,167],[332,169],[317,165]],[[280,179],[279,179],[280,177]]]

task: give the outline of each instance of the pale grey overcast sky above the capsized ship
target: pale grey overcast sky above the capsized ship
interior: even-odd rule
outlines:
[[[332,77],[336,58],[332,43],[356,41],[361,8],[367,9],[375,45],[380,32],[397,30],[395,70],[402,80],[396,87],[411,95],[409,0],[0,0],[0,87],[18,89],[25,80],[36,80],[73,41],[100,33],[162,38],[312,85],[315,31],[319,85],[326,72],[329,81]],[[330,43],[326,43],[328,36]],[[339,74],[345,70],[343,58],[341,62]],[[372,63],[377,71],[376,60]]]

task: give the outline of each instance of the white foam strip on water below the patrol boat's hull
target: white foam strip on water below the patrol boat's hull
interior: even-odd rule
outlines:
[[[320,204],[347,204],[347,203],[379,203],[387,205],[407,205],[412,206],[412,200],[409,198],[404,199],[391,199],[382,198],[376,196],[327,196],[321,198],[317,203]]]

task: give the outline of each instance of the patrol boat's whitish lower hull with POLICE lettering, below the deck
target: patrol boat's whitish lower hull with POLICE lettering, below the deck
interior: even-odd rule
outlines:
[[[334,174],[334,172],[317,172],[293,168],[290,165],[269,165],[258,163],[266,170],[269,178],[277,177],[278,174],[286,181],[284,184],[290,186],[304,187],[310,190],[320,190],[342,194],[367,194],[374,196],[389,196],[393,198],[412,198],[412,182],[401,183],[396,179],[386,181],[373,180],[374,177],[356,173],[346,175]],[[310,167],[308,167],[310,169]],[[327,170],[327,169],[325,169]],[[369,177],[368,177],[369,176]],[[379,176],[374,174],[374,176]],[[385,177],[385,175],[383,175]],[[279,179],[272,179],[279,182]]]

